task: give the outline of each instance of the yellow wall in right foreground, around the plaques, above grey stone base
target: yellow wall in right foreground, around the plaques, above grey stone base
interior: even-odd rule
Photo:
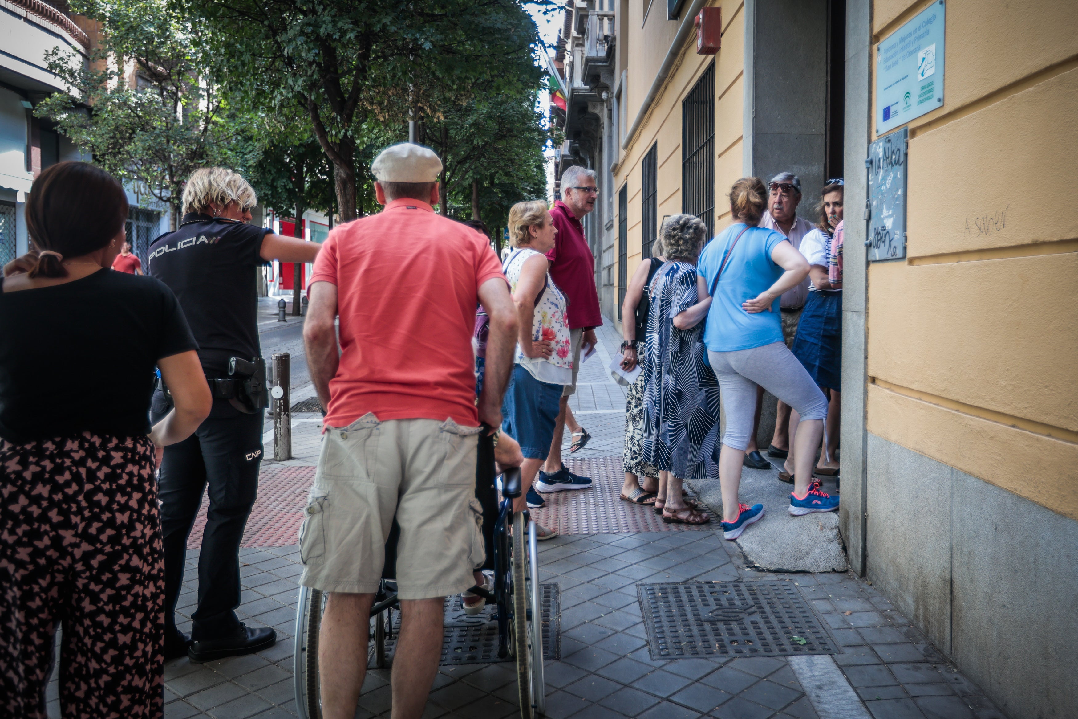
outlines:
[[[929,4],[876,0],[873,40]],[[867,321],[869,431],[1078,520],[1076,27],[1069,0],[948,3],[907,258],[870,263]]]

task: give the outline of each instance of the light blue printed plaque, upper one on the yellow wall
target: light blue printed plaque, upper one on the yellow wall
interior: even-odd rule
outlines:
[[[876,45],[876,135],[943,106],[945,19],[938,0]]]

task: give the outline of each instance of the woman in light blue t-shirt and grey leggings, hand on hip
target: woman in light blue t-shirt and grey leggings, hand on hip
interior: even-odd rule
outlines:
[[[697,294],[714,295],[704,328],[707,359],[725,407],[719,457],[722,533],[736,539],[763,516],[763,504],[737,501],[745,447],[752,433],[756,388],[760,385],[801,415],[794,447],[793,515],[839,509],[839,498],[813,483],[812,466],[827,416],[827,399],[783,341],[778,301],[808,274],[808,263],[783,235],[757,226],[768,192],[756,177],[737,180],[730,191],[734,223],[700,255]]]

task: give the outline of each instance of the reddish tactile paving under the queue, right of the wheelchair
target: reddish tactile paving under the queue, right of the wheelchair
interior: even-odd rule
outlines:
[[[714,531],[719,528],[718,517],[707,507],[702,506],[702,509],[711,517],[708,524],[666,524],[651,507],[619,499],[621,485],[625,481],[621,455],[566,458],[565,466],[576,474],[592,478],[591,488],[541,495],[547,504],[531,510],[536,522],[556,529],[558,534],[602,535],[685,529]]]

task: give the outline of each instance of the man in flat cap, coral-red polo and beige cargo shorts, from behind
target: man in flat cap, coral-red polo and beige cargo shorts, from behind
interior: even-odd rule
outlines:
[[[487,238],[434,213],[441,169],[428,148],[386,148],[371,165],[385,210],[334,229],[310,276],[303,337],[327,414],[300,533],[300,583],[329,593],[319,639],[326,719],[356,713],[395,515],[402,623],[393,717],[423,714],[442,651],[443,597],[472,586],[483,564],[478,435],[481,421],[501,426],[516,312]],[[490,332],[476,403],[479,303]]]

